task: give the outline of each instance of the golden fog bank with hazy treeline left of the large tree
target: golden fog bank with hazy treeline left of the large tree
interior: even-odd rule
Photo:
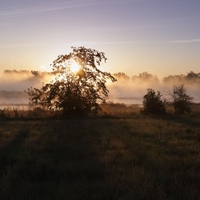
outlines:
[[[48,73],[6,70],[0,75],[0,104],[28,104],[25,90],[29,87],[41,88],[42,83],[49,80]]]

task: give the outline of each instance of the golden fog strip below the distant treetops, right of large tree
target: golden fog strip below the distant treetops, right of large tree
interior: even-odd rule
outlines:
[[[163,83],[158,82],[157,84],[139,83],[139,82],[116,82],[109,84],[109,98],[108,100],[114,103],[125,103],[125,104],[142,104],[143,96],[147,93],[147,89],[151,88],[153,90],[160,91],[163,95],[163,99],[171,101],[169,96],[169,91],[172,91],[173,86],[180,85],[182,83]],[[194,98],[193,102],[200,102],[200,85],[197,84],[184,84],[187,94]]]

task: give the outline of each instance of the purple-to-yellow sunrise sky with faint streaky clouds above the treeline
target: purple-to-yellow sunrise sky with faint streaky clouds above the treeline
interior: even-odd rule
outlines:
[[[0,72],[47,70],[71,46],[104,52],[103,71],[200,72],[200,0],[1,0]]]

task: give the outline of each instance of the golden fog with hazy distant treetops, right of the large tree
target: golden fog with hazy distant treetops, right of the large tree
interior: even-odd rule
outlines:
[[[163,99],[171,101],[169,91],[176,85],[184,85],[193,102],[200,102],[200,74],[190,72],[187,75],[169,75],[159,80],[156,75],[143,72],[132,77],[120,72],[114,74],[117,82],[108,85],[109,99],[114,103],[142,104],[147,89],[160,91]]]

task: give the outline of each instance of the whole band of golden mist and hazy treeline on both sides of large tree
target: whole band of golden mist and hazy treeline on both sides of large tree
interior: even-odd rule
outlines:
[[[170,75],[163,80],[157,76],[143,72],[128,77],[124,73],[113,74],[118,81],[106,84],[109,90],[108,102],[125,104],[142,104],[143,96],[148,88],[160,91],[163,98],[170,100],[168,91],[174,85],[184,84],[187,94],[194,97],[194,102],[200,102],[200,76],[188,79],[188,75]],[[51,79],[50,73],[37,71],[4,71],[0,75],[0,104],[27,104],[28,95],[24,92],[29,87],[41,88],[43,83]]]

